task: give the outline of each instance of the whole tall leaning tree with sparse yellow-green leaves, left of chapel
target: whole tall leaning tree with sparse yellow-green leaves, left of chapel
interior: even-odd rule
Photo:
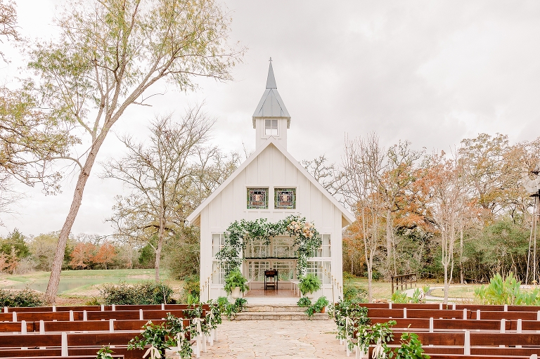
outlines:
[[[27,46],[49,108],[59,121],[82,129],[89,144],[71,158],[79,176],[60,230],[49,303],[56,300],[63,249],[110,129],[131,105],[147,105],[148,91],[160,80],[188,91],[197,86],[196,76],[231,79],[244,50],[227,45],[229,21],[213,0],[79,0],[60,14],[58,39]]]

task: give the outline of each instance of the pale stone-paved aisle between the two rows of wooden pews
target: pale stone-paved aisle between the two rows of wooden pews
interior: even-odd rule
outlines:
[[[224,320],[200,358],[347,358],[335,335],[333,320]]]

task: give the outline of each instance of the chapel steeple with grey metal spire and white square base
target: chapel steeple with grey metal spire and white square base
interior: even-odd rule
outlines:
[[[262,95],[257,110],[253,113],[253,128],[256,129],[256,144],[259,148],[270,136],[276,138],[281,145],[287,148],[287,129],[290,127],[290,115],[281,100],[272,68],[272,58],[270,58],[268,78],[266,79],[266,89]]]

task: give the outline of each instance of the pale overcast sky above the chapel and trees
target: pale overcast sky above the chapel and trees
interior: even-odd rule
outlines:
[[[48,38],[59,0],[17,0],[21,32]],[[166,89],[153,107],[129,111],[117,134],[146,136],[155,114],[181,115],[205,101],[217,118],[214,143],[224,150],[255,148],[251,118],[264,92],[268,60],[292,116],[288,150],[298,160],[326,153],[340,161],[343,139],[375,132],[383,145],[409,140],[415,148],[449,150],[478,133],[506,133],[512,143],[540,136],[539,1],[245,1],[226,0],[231,41],[247,46],[235,81],[200,79],[196,93]],[[10,83],[24,60],[1,69]],[[99,160],[122,155],[115,136]],[[73,233],[111,233],[105,218],[122,185],[101,180],[94,167]],[[73,175],[63,193],[27,193],[6,227],[28,235],[59,230],[71,202]]]

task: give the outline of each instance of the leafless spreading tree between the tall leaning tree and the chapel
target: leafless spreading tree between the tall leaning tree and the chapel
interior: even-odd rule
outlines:
[[[127,156],[111,159],[104,166],[104,176],[117,178],[134,190],[136,206],[128,209],[143,217],[143,228],[155,228],[158,232],[154,248],[156,281],[160,280],[163,242],[169,222],[178,212],[175,204],[181,196],[182,183],[191,176],[191,160],[207,141],[213,124],[214,120],[200,107],[189,109],[178,124],[172,122],[170,115],[155,119],[148,141],[123,138]]]

